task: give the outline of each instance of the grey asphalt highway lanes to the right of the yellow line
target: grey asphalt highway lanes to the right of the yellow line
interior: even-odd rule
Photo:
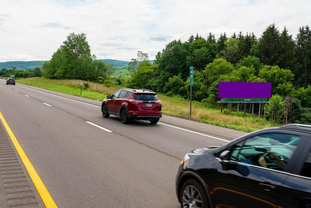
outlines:
[[[177,208],[183,155],[244,134],[168,116],[124,125],[80,100],[0,80],[0,111],[58,207]]]

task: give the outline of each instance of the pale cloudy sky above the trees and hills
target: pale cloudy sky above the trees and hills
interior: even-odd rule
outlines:
[[[0,62],[50,60],[71,32],[86,33],[97,59],[154,59],[167,43],[191,34],[254,32],[272,23],[296,37],[310,25],[309,0],[1,0]]]

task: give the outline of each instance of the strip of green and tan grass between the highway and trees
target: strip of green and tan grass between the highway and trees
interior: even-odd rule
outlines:
[[[20,79],[16,82],[30,85],[31,79]],[[50,89],[57,92],[72,94],[80,96],[80,83],[85,83],[82,80],[49,80],[45,78],[34,77],[32,85],[43,89]],[[120,89],[120,86],[107,87],[102,84],[96,83],[96,90],[94,84],[89,83],[89,88],[85,88],[82,84],[82,97],[103,100],[106,95],[114,93]],[[200,102],[193,102],[192,117],[189,117],[188,100],[180,98],[172,98],[163,94],[158,94],[159,99],[162,101],[162,112],[166,115],[172,115],[180,118],[191,119],[203,123],[209,123],[216,126],[222,126],[232,129],[237,129],[244,132],[252,132],[261,128],[270,127],[272,124],[263,118],[256,116],[237,116],[221,114],[220,109],[207,108]]]

